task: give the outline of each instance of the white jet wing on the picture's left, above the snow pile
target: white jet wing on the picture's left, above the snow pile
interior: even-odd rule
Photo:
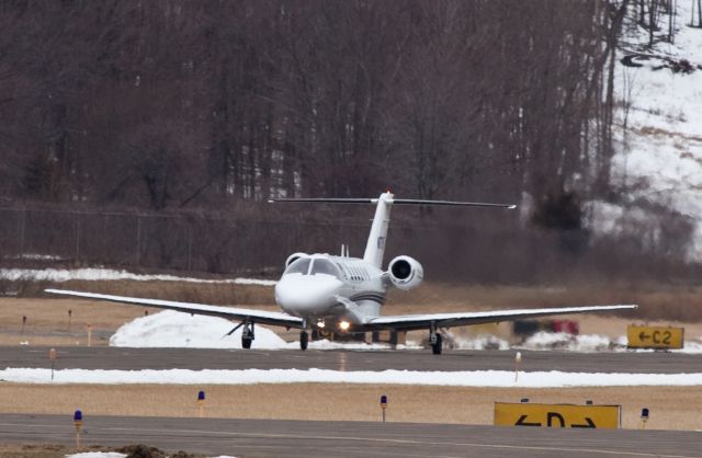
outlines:
[[[141,299],[138,297],[112,296],[95,293],[69,291],[66,289],[44,289],[46,293],[63,296],[83,297],[86,299],[109,300],[111,302],[131,304],[143,307],[154,307],[158,309],[168,309],[182,311],[192,314],[207,314],[211,317],[226,318],[228,320],[247,320],[250,319],[257,324],[271,324],[285,328],[302,328],[302,318],[293,317],[287,313],[239,309],[234,307],[208,306],[205,304],[176,302],[172,300],[160,299]]]

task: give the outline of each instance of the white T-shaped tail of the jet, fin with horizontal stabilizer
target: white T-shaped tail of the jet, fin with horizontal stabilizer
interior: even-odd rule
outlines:
[[[381,194],[378,198],[274,198],[269,203],[275,202],[298,202],[298,203],[328,203],[328,204],[377,204],[375,207],[375,216],[371,225],[371,233],[365,244],[363,261],[382,268],[383,254],[385,253],[385,242],[387,241],[387,227],[390,222],[392,205],[444,205],[456,207],[494,207],[494,208],[517,208],[512,204],[484,204],[479,202],[452,202],[452,201],[418,201],[409,198],[394,198],[395,196],[387,192]]]

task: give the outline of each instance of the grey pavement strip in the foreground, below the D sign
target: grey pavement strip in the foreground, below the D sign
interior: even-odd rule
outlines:
[[[419,423],[86,416],[82,443],[285,457],[699,457],[702,433]],[[5,414],[1,443],[72,444],[69,415]]]

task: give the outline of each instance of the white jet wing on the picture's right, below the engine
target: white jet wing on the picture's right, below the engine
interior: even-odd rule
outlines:
[[[378,317],[370,320],[366,327],[370,329],[394,329],[398,331],[414,331],[429,329],[431,323],[437,328],[452,328],[467,324],[494,323],[499,321],[513,321],[523,318],[548,317],[552,314],[570,314],[602,312],[612,310],[632,310],[638,306],[590,306],[590,307],[562,307],[552,309],[518,309],[518,310],[495,310],[478,312],[458,313],[429,313],[429,314],[399,314]]]

